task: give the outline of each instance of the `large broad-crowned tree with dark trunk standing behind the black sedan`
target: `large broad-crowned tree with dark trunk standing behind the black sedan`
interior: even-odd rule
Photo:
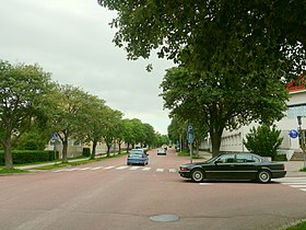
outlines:
[[[246,76],[215,76],[176,67],[167,70],[161,95],[172,116],[210,133],[213,154],[217,154],[223,129],[283,117],[287,92],[278,78],[269,69]]]

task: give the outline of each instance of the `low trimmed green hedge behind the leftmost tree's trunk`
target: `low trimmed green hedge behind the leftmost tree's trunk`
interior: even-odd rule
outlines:
[[[13,150],[13,164],[25,164],[44,161],[54,161],[55,157],[58,159],[58,152],[44,150]],[[0,150],[0,165],[4,165],[4,151]]]

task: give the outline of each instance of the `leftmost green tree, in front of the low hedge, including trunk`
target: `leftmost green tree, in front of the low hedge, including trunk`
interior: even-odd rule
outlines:
[[[50,73],[38,65],[13,66],[0,60],[0,143],[5,152],[5,166],[12,169],[12,147],[45,115]]]

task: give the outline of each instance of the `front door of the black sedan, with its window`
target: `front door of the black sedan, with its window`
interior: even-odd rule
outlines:
[[[232,180],[235,174],[235,154],[222,154],[210,165],[205,165],[207,179]]]

